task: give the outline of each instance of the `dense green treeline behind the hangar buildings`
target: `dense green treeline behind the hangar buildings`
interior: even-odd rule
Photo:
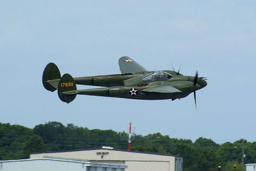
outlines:
[[[36,125],[33,129],[21,125],[0,123],[0,160],[26,159],[30,153],[95,149],[111,146],[127,150],[128,134],[112,130],[88,129],[60,122]],[[132,151],[178,155],[184,158],[184,171],[245,171],[244,163],[256,163],[256,142],[244,139],[234,143],[217,144],[203,137],[190,139],[170,138],[160,133],[134,135]],[[245,156],[243,155],[245,154]]]

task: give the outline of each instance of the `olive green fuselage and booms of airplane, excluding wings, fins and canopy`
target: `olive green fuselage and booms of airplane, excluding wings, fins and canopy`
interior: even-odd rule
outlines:
[[[158,82],[157,81],[145,82],[142,80],[144,76],[152,72],[74,78],[74,81],[76,82],[76,84],[104,87],[104,88],[77,90],[76,94],[95,95],[95,96],[104,96],[104,97],[119,97],[119,98],[127,98],[127,99],[147,99],[147,100],[180,99],[188,96],[194,90],[198,90],[205,87],[207,84],[204,80],[202,80],[202,78],[198,78],[198,82],[196,86],[193,86],[192,80],[194,80],[194,77],[182,76],[182,75],[175,76],[176,72],[173,72],[173,71],[165,71],[165,72],[169,74],[173,74],[172,78],[170,78],[169,80],[158,81]],[[126,83],[128,83],[128,85],[126,85]],[[158,85],[162,85],[162,86],[170,85],[180,90],[180,92],[160,93],[160,92],[144,91],[150,87],[154,87]],[[136,94],[131,95],[132,89],[137,90]]]

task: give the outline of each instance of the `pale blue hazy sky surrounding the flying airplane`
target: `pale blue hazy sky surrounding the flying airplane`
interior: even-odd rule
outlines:
[[[1,1],[0,122],[58,121],[171,138],[256,141],[256,1]],[[206,77],[180,100],[77,95],[67,104],[42,85],[54,62],[73,77],[120,74],[129,56],[149,71]],[[91,86],[78,86],[89,89]]]

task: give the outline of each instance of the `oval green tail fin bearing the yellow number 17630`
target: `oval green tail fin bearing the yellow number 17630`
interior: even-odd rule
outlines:
[[[58,95],[61,101],[70,103],[76,98],[76,82],[69,74],[64,74],[59,81]]]

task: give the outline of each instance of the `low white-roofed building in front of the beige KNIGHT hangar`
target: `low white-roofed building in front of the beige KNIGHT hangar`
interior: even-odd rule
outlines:
[[[125,168],[127,166],[57,157],[0,161],[1,171],[124,171]]]

